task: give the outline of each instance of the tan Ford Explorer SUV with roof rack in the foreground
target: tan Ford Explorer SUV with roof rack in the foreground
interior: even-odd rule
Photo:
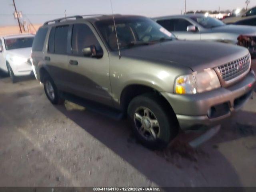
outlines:
[[[60,18],[38,30],[33,70],[50,102],[127,115],[140,142],[162,148],[180,128],[219,125],[250,98],[246,48],[176,40],[142,16],[114,18],[116,25],[112,15]]]

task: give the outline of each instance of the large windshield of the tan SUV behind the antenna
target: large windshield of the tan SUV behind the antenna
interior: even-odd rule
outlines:
[[[148,18],[117,18],[115,22],[120,49],[175,39],[172,33]],[[98,21],[96,26],[110,49],[117,50],[114,21]]]

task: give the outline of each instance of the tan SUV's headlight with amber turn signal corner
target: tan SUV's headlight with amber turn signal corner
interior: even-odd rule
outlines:
[[[220,81],[213,69],[180,76],[175,82],[177,94],[196,94],[220,87]]]

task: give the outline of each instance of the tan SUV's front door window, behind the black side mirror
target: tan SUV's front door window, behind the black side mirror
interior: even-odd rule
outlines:
[[[92,30],[86,24],[74,24],[72,32],[72,54],[83,56],[83,48],[95,45],[98,52],[102,48]]]

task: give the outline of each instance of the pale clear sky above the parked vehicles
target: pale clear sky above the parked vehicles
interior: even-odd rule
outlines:
[[[12,0],[0,0],[0,26],[15,25]],[[16,0],[22,20],[41,24],[46,20],[74,14],[110,14],[109,0]],[[186,0],[188,10],[233,10],[246,6],[245,0]],[[114,13],[162,16],[184,12],[184,0],[112,0]],[[256,6],[251,0],[249,7]]]

